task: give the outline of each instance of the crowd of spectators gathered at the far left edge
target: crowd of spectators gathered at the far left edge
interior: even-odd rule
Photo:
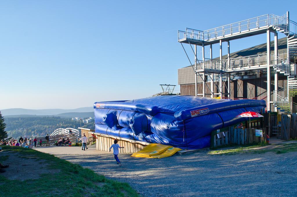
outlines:
[[[42,140],[39,141],[40,146],[42,143]],[[34,139],[32,139],[32,137],[29,139],[29,137],[27,138],[23,138],[22,136],[20,137],[19,140],[16,140],[14,138],[10,139],[10,140],[1,140],[0,141],[0,145],[6,145],[6,146],[21,146],[24,148],[32,148],[33,146],[36,147],[37,146],[37,138],[35,137]]]

